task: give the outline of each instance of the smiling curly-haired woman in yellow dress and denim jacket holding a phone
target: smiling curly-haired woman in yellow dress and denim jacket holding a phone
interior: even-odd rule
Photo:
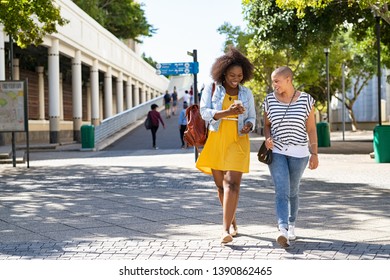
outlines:
[[[236,209],[241,179],[243,173],[249,172],[248,133],[255,127],[256,112],[252,92],[242,84],[252,78],[253,70],[250,61],[231,47],[212,66],[214,92],[213,85],[209,85],[200,101],[209,135],[196,167],[212,174],[217,186],[223,209],[222,243],[233,241],[238,233]]]

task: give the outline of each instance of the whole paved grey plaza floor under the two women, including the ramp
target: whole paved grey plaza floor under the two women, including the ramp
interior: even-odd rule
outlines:
[[[163,114],[162,114],[163,115]],[[33,152],[0,166],[0,260],[390,259],[390,164],[370,158],[372,133],[332,133],[301,188],[298,239],[281,249],[273,187],[256,159],[243,177],[239,236],[219,243],[222,209],[210,176],[180,149],[177,116],[159,150],[138,127],[98,152]],[[142,146],[143,145],[143,146]]]

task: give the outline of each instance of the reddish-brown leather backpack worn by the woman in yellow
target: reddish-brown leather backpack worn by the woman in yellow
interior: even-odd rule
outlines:
[[[211,97],[214,94],[215,83],[213,83]],[[187,128],[184,131],[184,141],[188,147],[202,147],[206,144],[208,125],[200,115],[198,104],[193,104],[186,109]]]

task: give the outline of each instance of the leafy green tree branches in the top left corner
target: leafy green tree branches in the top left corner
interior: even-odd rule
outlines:
[[[61,17],[60,8],[51,0],[2,0],[0,23],[21,48],[39,45],[46,34],[57,32],[57,25],[68,21]]]

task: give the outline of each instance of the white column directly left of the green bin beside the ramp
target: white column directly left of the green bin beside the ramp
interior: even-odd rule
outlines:
[[[82,75],[81,75],[81,51],[76,50],[72,59],[72,107],[73,107],[73,140],[80,142],[80,127],[83,114],[82,99]]]

